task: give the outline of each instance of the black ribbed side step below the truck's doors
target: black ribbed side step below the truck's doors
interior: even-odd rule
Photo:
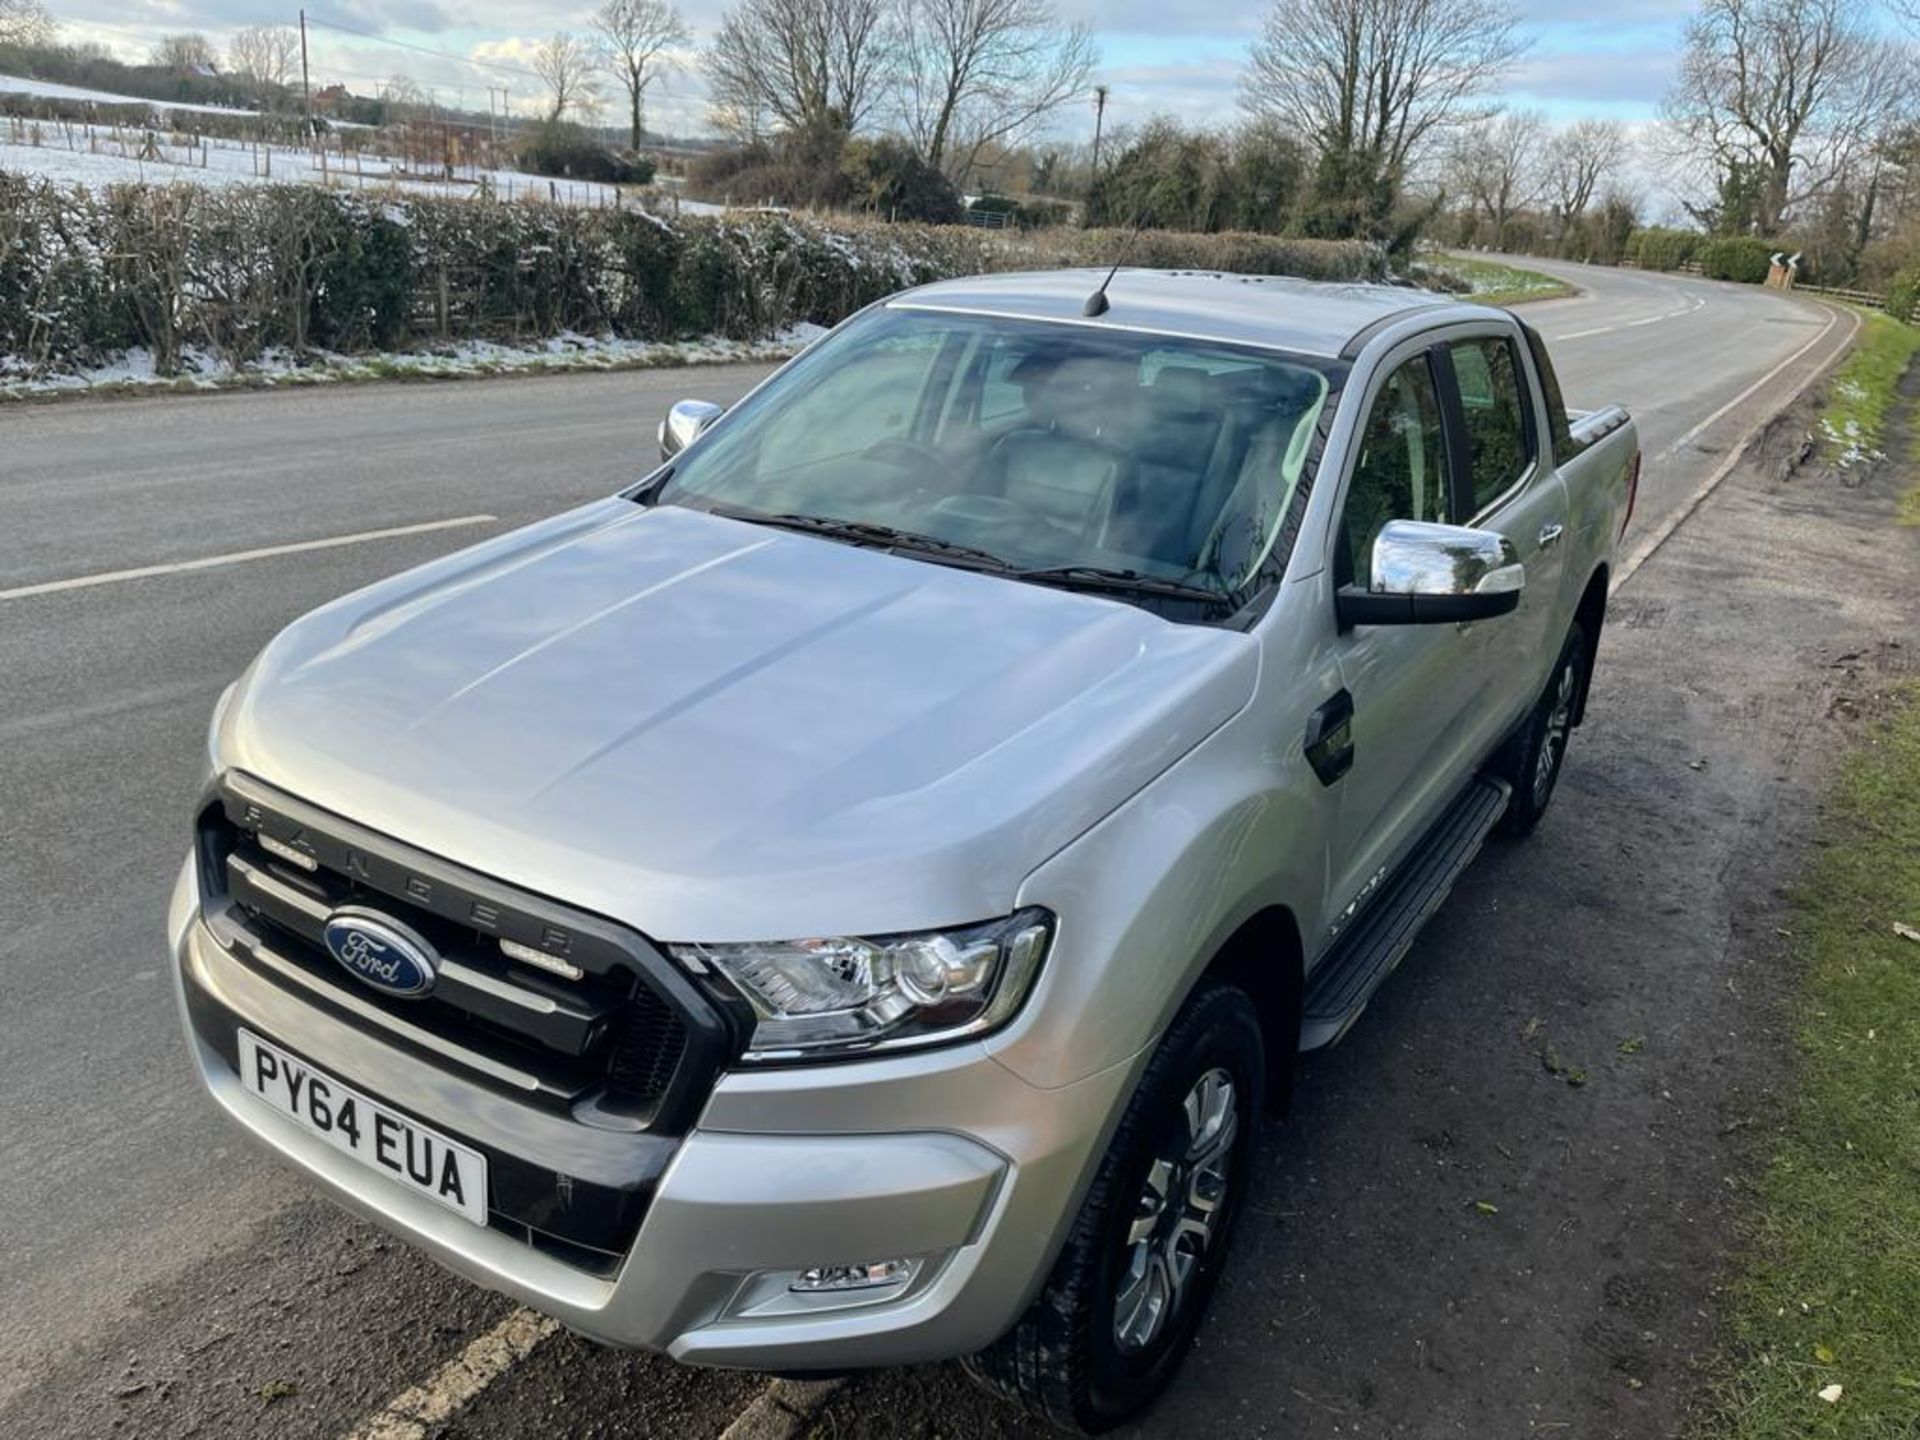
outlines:
[[[1380,981],[1413,947],[1421,925],[1473,864],[1509,795],[1507,781],[1478,776],[1402,862],[1386,891],[1321,960],[1308,981],[1300,1014],[1302,1050],[1332,1044],[1359,1020]]]

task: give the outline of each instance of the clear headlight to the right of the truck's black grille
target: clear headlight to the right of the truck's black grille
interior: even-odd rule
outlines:
[[[924,935],[666,948],[753,1008],[747,1060],[826,1060],[1004,1025],[1033,989],[1052,937],[1046,910],[1021,910]]]

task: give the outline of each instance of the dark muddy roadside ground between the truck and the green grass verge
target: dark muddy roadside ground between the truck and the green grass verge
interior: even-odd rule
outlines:
[[[1907,474],[1789,472],[1803,436],[1805,409],[1615,595],[1553,812],[1304,1066],[1139,1434],[1642,1440],[1701,1404],[1789,1079],[1786,893],[1837,751],[1920,672]],[[860,1379],[816,1427],[1020,1430],[956,1367]]]

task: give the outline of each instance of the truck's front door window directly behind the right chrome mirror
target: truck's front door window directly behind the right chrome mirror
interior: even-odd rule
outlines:
[[[1359,461],[1346,488],[1346,576],[1365,584],[1373,540],[1388,520],[1448,520],[1446,436],[1432,365],[1415,355],[1373,399],[1359,438]]]

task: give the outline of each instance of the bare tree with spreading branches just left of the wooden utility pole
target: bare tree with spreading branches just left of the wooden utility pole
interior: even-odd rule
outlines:
[[[981,150],[1014,146],[1085,94],[1096,52],[1052,0],[902,0],[900,71],[922,157],[964,180]]]

